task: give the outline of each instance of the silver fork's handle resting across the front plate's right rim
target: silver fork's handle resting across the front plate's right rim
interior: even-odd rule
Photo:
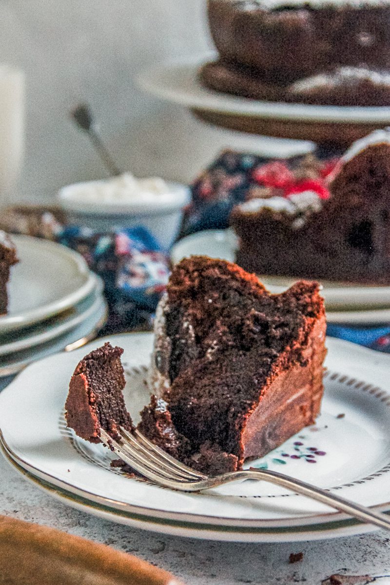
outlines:
[[[332,506],[332,508],[336,508],[336,510],[339,510],[340,512],[346,512],[350,516],[363,520],[363,522],[368,522],[368,524],[374,524],[375,526],[379,526],[379,528],[390,530],[390,518],[382,512],[375,512],[370,508],[346,500],[346,498],[341,498],[339,495],[333,494],[329,490],[312,486],[311,484],[299,479],[292,479],[289,476],[285,476],[283,473],[272,472],[265,469],[249,469],[241,472],[226,473],[218,479],[222,480],[222,477],[223,483],[230,483],[230,481],[237,481],[238,479],[268,481],[269,483],[274,483],[277,486],[285,487],[288,490],[312,498],[312,500],[317,500],[323,504]]]

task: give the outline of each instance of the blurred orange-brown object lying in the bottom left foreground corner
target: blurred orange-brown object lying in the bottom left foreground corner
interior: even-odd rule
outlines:
[[[0,516],[0,585],[180,585],[135,556]]]

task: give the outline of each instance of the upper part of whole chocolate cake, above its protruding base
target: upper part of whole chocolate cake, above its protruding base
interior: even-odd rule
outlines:
[[[208,16],[222,59],[281,85],[337,66],[390,70],[388,2],[208,0]]]

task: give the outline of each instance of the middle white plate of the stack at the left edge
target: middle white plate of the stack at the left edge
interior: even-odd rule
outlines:
[[[8,335],[0,336],[0,356],[20,352],[29,347],[46,343],[51,339],[55,339],[71,331],[71,329],[74,329],[82,322],[87,321],[96,312],[99,312],[102,306],[102,290],[102,280],[96,276],[95,289],[91,295],[71,309],[29,328],[19,329],[16,332],[8,333]]]

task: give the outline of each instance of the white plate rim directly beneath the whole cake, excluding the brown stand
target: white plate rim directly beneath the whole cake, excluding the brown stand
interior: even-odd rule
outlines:
[[[261,118],[302,120],[316,122],[360,122],[362,124],[390,122],[388,107],[318,106],[284,104],[222,94],[203,87],[198,81],[198,70],[203,63],[216,59],[208,53],[194,59],[175,60],[159,64],[139,75],[141,88],[157,97],[187,106],[219,113],[230,113]]]

